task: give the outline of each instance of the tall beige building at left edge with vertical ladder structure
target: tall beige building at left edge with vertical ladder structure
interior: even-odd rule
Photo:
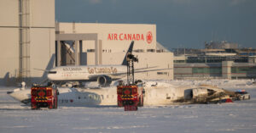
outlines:
[[[0,86],[42,80],[36,69],[55,57],[55,1],[0,0],[0,18]]]

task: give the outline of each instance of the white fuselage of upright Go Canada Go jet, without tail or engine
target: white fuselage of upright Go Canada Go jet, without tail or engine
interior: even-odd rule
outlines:
[[[97,77],[104,75],[119,79],[118,75],[125,74],[126,71],[125,65],[61,66],[50,69],[47,76],[53,81],[97,80]]]

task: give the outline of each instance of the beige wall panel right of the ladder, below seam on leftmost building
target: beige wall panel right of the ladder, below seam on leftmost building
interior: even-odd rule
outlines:
[[[40,78],[44,71],[37,69],[51,69],[55,66],[55,29],[34,28],[31,30],[31,38],[31,75]]]

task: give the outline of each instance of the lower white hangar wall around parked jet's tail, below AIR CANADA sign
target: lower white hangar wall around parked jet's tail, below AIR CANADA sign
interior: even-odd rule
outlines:
[[[136,79],[143,80],[172,80],[173,79],[173,54],[172,53],[133,53],[139,59],[135,69],[149,68],[163,69],[143,73],[136,73]],[[125,53],[102,53],[102,64],[122,64]],[[162,59],[160,59],[162,58]],[[158,72],[160,74],[158,74]],[[161,75],[163,74],[163,75]]]

